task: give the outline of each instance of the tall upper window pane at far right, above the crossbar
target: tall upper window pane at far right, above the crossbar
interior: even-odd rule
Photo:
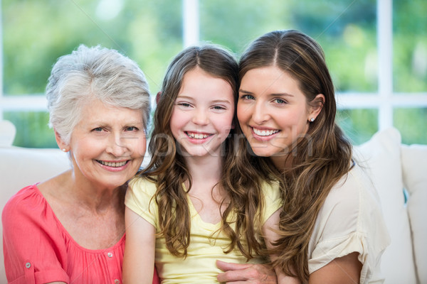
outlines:
[[[393,1],[396,92],[427,90],[427,1]]]

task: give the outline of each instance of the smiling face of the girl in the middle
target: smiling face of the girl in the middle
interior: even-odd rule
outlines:
[[[233,128],[233,89],[199,67],[186,72],[176,97],[170,127],[182,155],[221,155]]]

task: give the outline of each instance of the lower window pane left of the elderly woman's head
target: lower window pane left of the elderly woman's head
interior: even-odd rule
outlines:
[[[43,111],[8,111],[4,119],[16,127],[13,145],[28,148],[58,148],[53,129],[48,127],[49,115]]]

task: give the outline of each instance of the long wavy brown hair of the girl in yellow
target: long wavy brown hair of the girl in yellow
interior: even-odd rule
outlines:
[[[228,50],[217,45],[203,45],[186,48],[176,55],[167,69],[162,90],[158,94],[160,97],[157,97],[154,130],[149,142],[152,160],[147,169],[140,173],[157,185],[153,200],[157,202],[159,208],[160,235],[164,236],[170,253],[181,257],[187,254],[191,230],[188,192],[184,190],[182,184],[189,181],[188,191],[191,191],[191,174],[172,135],[170,119],[184,75],[196,67],[200,67],[213,77],[226,80],[233,89],[236,104],[238,64]],[[237,248],[243,256],[250,259],[265,253],[262,241],[256,237],[260,234],[259,213],[263,207],[263,195],[259,175],[246,159],[245,143],[240,129],[238,127],[231,129],[223,143],[223,167],[218,186],[227,195],[221,200],[220,205],[229,202],[228,205],[224,205],[226,209],[221,215],[221,230],[231,239],[224,252],[229,253]],[[229,222],[227,217],[232,212],[235,213],[236,219]],[[247,241],[247,245],[242,242],[243,239]]]

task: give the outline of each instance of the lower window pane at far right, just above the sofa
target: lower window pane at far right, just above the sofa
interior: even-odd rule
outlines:
[[[394,109],[394,126],[404,144],[427,144],[427,108]]]

